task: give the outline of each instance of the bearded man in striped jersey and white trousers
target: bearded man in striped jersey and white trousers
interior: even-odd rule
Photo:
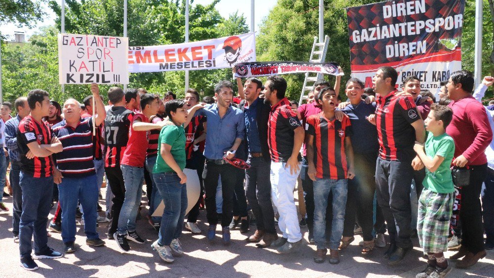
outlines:
[[[271,104],[268,122],[268,146],[271,155],[271,196],[278,208],[278,226],[283,236],[271,243],[280,253],[292,252],[302,245],[293,189],[300,174],[300,147],[304,130],[297,114],[285,97],[287,81],[281,76],[268,77],[264,102]]]

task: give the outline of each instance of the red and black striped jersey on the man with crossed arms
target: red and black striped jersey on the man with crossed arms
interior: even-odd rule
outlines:
[[[48,122],[38,122],[31,115],[24,117],[19,123],[17,130],[17,145],[21,151],[21,170],[33,175],[35,178],[46,178],[53,174],[53,162],[51,155],[47,157],[34,157],[28,159],[26,153],[29,151],[28,144],[49,144],[51,141],[51,130]]]

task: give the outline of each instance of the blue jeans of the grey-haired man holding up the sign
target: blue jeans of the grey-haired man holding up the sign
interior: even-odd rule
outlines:
[[[63,242],[76,240],[76,208],[81,201],[84,216],[84,233],[87,239],[99,238],[96,232],[96,204],[98,202],[98,185],[96,174],[83,178],[62,179],[58,185],[60,207],[62,208]]]

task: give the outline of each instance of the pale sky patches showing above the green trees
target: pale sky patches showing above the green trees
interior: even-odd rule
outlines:
[[[131,1],[131,0],[129,0]],[[212,0],[195,0],[193,4],[209,4]],[[254,24],[255,31],[262,22],[262,18],[268,15],[269,11],[275,6],[277,0],[254,0]],[[229,14],[239,11],[239,14],[244,14],[247,18],[247,25],[250,26],[250,0],[221,0],[216,4],[216,9],[223,17],[228,17]],[[44,5],[44,10],[48,13],[45,19],[35,24],[35,28],[17,27],[14,23],[3,24],[0,26],[2,35],[7,37],[7,40],[14,39],[14,32],[25,32],[27,37],[34,34],[42,26],[54,24],[55,14]]]

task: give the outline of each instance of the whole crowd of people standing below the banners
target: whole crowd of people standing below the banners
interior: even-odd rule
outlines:
[[[145,243],[136,227],[144,182],[146,221],[159,232],[151,247],[169,263],[184,253],[184,226],[202,232],[201,209],[207,239],[217,240],[220,224],[225,245],[232,229],[248,232],[255,219],[247,242],[290,253],[306,244],[300,228],[307,227],[316,263],[339,263],[358,229],[362,254],[387,246],[389,265],[399,264],[418,237],[427,257],[419,278],[452,271],[448,248],[457,248],[450,257],[457,268],[484,258],[494,248],[494,105],[481,101],[494,78],[485,77],[474,92],[472,74],[454,72],[441,84],[439,102],[415,76],[398,86],[392,67],[377,70],[372,88],[349,79],[343,102],[340,79],[334,87],[317,81],[300,106],[286,97],[281,76],[264,84],[237,78],[238,96],[232,82],[220,81],[203,102],[194,89],[182,100],[112,87],[105,106],[96,84],[82,103],[69,98],[63,105],[33,90],[15,100],[15,117],[4,102],[0,184],[12,193],[21,266],[36,270],[33,259],[62,256],[47,245],[53,200],[48,228],[61,232],[65,253],[77,250],[78,215],[88,245],[105,244],[98,223],[108,223],[105,237],[122,252]],[[185,168],[193,170],[189,177]],[[187,211],[190,173],[201,193]],[[104,180],[110,190],[100,216]],[[153,216],[162,201],[163,215]],[[8,211],[1,202],[0,209]]]

